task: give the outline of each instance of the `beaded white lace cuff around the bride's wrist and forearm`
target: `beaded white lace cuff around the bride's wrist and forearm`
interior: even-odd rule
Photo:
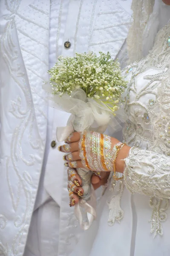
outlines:
[[[131,193],[170,199],[170,157],[132,147],[125,163],[124,183]]]

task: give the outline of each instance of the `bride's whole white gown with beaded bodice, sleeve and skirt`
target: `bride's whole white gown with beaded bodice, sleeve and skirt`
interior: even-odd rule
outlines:
[[[125,93],[124,109],[128,120],[123,133],[124,140],[132,147],[125,159],[124,182],[112,182],[111,191],[109,187],[106,189],[96,226],[93,226],[93,236],[87,232],[82,238],[85,246],[80,241],[72,256],[77,256],[80,250],[83,256],[111,255],[112,252],[116,256],[169,254],[169,31],[170,24],[158,32],[149,55],[124,70],[130,82]],[[109,225],[106,224],[108,216]],[[156,240],[153,240],[155,236]],[[123,248],[117,246],[120,237]],[[106,241],[107,247],[103,249]]]

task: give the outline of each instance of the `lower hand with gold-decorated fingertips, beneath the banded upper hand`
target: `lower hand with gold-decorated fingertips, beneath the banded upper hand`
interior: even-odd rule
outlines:
[[[67,170],[68,174],[68,186],[67,189],[69,191],[70,198],[70,207],[78,204],[79,196],[82,196],[84,193],[83,188],[81,187],[81,177],[76,172],[76,169],[69,168]],[[91,183],[94,189],[98,189],[100,186],[107,183],[107,179],[109,177],[109,172],[101,172],[100,177],[95,174],[91,177]]]

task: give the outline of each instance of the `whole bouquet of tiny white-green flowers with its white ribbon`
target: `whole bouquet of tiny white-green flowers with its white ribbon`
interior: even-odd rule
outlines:
[[[73,131],[90,129],[104,133],[108,125],[112,131],[121,128],[115,116],[123,118],[118,109],[127,81],[121,76],[118,61],[114,61],[109,52],[99,52],[99,55],[93,52],[76,53],[75,57],[60,56],[48,73],[53,106],[72,113],[66,128],[57,128],[58,141],[65,140]],[[75,207],[75,215],[81,227],[88,229],[92,221],[87,218],[87,213],[91,213],[92,219],[95,218],[95,207],[89,204],[90,199],[93,205],[95,201],[90,185],[92,172],[87,169],[77,169],[77,172],[83,177],[84,197]],[[83,219],[82,212],[86,213],[86,220]]]

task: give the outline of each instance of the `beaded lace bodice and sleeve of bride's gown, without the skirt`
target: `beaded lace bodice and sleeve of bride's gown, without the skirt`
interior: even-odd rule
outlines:
[[[167,158],[170,155],[170,79],[164,81],[170,65],[169,27],[168,24],[158,33],[155,45],[146,58],[124,70],[125,76],[130,77],[124,102],[128,116],[124,140],[132,147],[130,152],[133,152],[125,160],[124,181],[130,192],[152,196],[150,222],[154,236],[163,234],[161,222],[167,218],[165,210],[170,198],[170,177],[167,172],[170,170],[170,159]],[[164,38],[161,43],[160,38]],[[143,79],[143,87],[139,87],[140,79]],[[143,103],[144,97],[149,98],[146,105]],[[135,172],[135,166],[141,169],[145,166],[147,175]]]

